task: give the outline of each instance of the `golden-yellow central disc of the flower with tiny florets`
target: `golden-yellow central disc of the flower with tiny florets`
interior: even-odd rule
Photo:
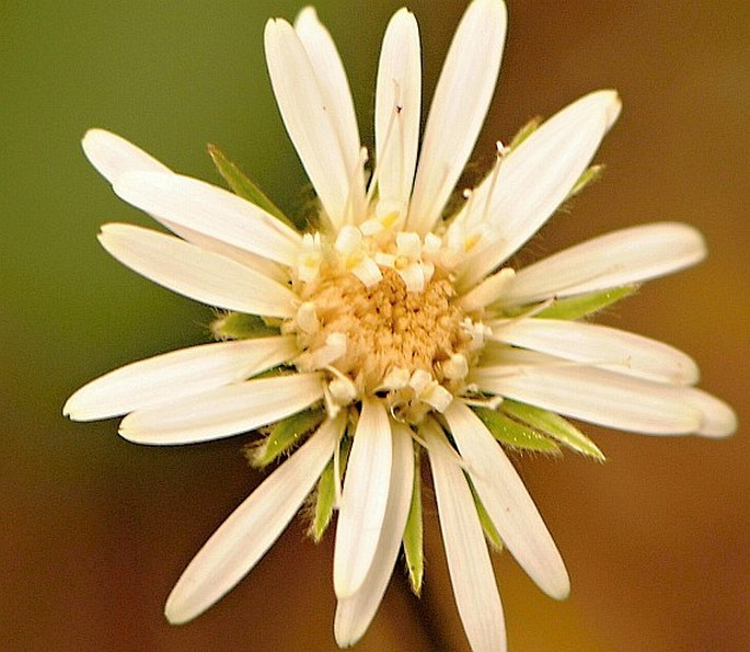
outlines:
[[[399,244],[415,260],[417,242]],[[304,301],[285,330],[296,333],[303,352],[298,368],[328,374],[330,404],[378,396],[395,417],[416,423],[463,389],[475,338],[452,277],[430,267],[418,291],[388,265],[369,286],[346,266],[327,265],[301,288]],[[343,392],[347,381],[353,390]]]

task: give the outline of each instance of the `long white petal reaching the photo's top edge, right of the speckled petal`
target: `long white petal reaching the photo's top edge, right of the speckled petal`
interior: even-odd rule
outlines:
[[[426,233],[471,156],[500,69],[507,13],[499,0],[476,0],[451,43],[425,127],[409,230]]]

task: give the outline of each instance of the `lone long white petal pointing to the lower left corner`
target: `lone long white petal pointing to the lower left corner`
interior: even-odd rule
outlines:
[[[166,599],[170,622],[192,620],[250,572],[276,541],[333,456],[344,420],[326,421],[216,530]]]

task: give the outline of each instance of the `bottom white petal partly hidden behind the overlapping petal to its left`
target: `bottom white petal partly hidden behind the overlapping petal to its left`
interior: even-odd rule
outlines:
[[[339,648],[349,648],[362,637],[383,598],[406,527],[413,481],[412,433],[404,425],[393,424],[393,466],[383,529],[372,567],[361,588],[339,599],[336,606],[333,628]]]

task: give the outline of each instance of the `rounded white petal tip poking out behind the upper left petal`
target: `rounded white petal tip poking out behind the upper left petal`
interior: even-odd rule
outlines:
[[[81,142],[91,164],[109,183],[126,172],[162,172],[171,170],[125,138],[105,129],[89,129]]]

